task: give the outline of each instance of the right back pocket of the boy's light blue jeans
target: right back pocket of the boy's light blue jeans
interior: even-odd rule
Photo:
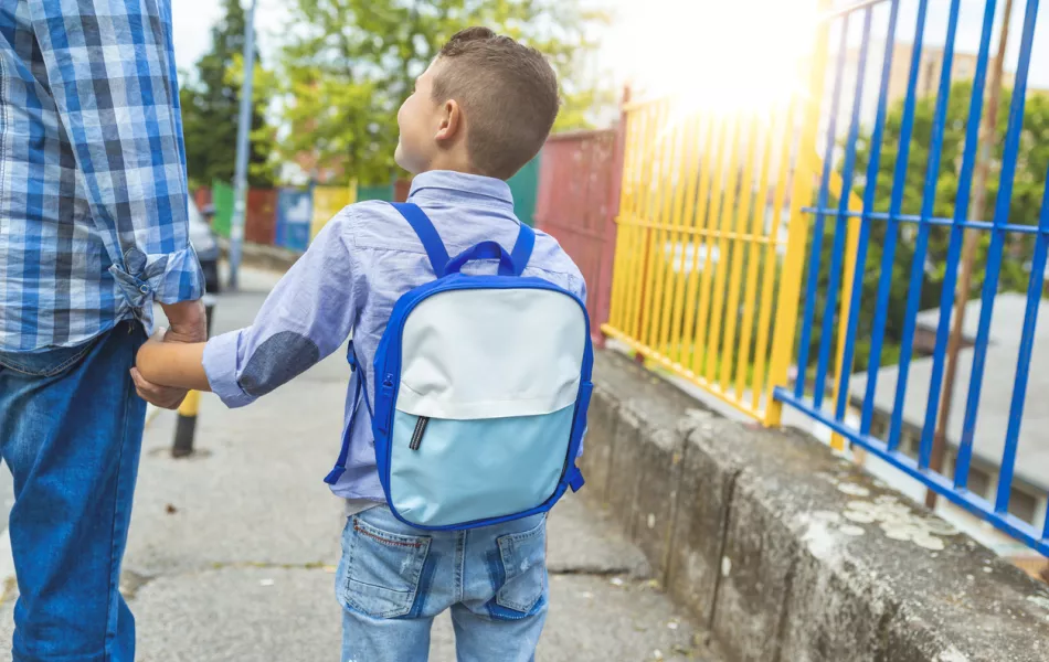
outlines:
[[[505,581],[496,604],[528,613],[543,596],[547,585],[547,520],[521,533],[499,536]]]

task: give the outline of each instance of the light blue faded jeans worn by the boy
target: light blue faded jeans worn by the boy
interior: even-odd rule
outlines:
[[[459,662],[530,662],[547,618],[547,520],[424,532],[386,506],[349,517],[336,594],[343,662],[424,662],[452,610]]]

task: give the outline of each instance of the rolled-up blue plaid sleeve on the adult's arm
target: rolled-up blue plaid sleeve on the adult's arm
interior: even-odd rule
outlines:
[[[29,0],[62,130],[130,306],[199,299],[170,0]]]

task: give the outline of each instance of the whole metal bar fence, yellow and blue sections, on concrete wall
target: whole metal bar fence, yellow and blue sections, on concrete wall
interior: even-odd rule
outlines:
[[[866,449],[1049,553],[1049,478],[1034,462],[1049,449],[1049,398],[1028,394],[1036,341],[1047,335],[1037,316],[1047,305],[1049,244],[1049,150],[1039,140],[1049,136],[1031,132],[1040,119],[1025,132],[1038,0],[1017,3],[1019,55],[997,137],[985,118],[995,0],[979,3],[968,72],[955,57],[960,0],[945,25],[925,24],[928,0],[908,6],[907,17],[898,0],[823,2],[807,88],[790,104],[743,113],[675,99],[626,105],[602,330],[766,425],[790,405],[829,427],[839,446]],[[910,19],[905,44],[897,33]],[[875,24],[884,28],[878,39]],[[936,41],[944,31],[942,49],[923,50],[926,30]],[[910,56],[902,85],[893,67],[901,51]],[[990,134],[984,156],[982,121]],[[981,159],[994,180],[989,218],[974,212],[985,188],[974,186]],[[1027,199],[1037,183],[1032,206],[1018,206],[1017,181]],[[955,306],[966,244],[978,263],[978,297],[962,309],[978,319],[968,325]],[[1011,310],[995,316],[996,302]],[[955,372],[952,323],[971,338],[961,335],[956,375],[945,380]],[[928,346],[915,342],[923,333]],[[988,365],[997,375],[1004,364],[1015,366],[1009,378],[985,388]],[[958,391],[952,416],[941,412],[952,393],[945,381]]]

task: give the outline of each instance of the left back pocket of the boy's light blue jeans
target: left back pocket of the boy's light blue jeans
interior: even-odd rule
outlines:
[[[382,531],[356,516],[347,535],[346,606],[373,618],[411,611],[431,538]]]

